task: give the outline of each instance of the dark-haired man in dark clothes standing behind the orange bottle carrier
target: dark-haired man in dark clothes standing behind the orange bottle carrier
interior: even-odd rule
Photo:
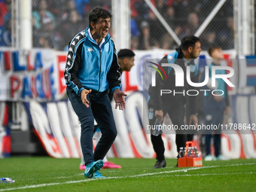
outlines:
[[[174,53],[164,56],[160,61],[159,65],[162,66],[166,78],[162,78],[159,73],[156,73],[156,84],[153,85],[151,83],[148,90],[149,123],[150,125],[154,125],[156,120],[162,123],[163,117],[168,113],[173,125],[178,127],[178,130],[176,130],[177,151],[179,148],[184,147],[187,142],[187,135],[181,130],[181,126],[184,125],[186,102],[190,103],[190,108],[187,109],[190,110],[189,123],[194,123],[195,126],[197,125],[197,96],[187,96],[186,94],[187,90],[197,90],[197,88],[187,83],[186,70],[187,66],[190,66],[191,81],[197,83],[199,81],[199,72],[198,66],[194,63],[194,59],[200,55],[201,51],[199,38],[193,35],[184,37],[181,40],[181,46],[178,47]],[[179,83],[176,82],[176,75],[178,75],[177,70],[171,66],[163,66],[163,63],[175,63],[175,65],[178,65],[183,70],[183,86],[176,86],[176,84]],[[165,94],[162,92],[163,90],[171,90],[171,93],[169,91],[168,94]],[[165,148],[161,135],[162,130],[159,130],[157,133],[151,130],[151,142],[157,154],[157,163],[154,168],[166,166],[164,157]]]

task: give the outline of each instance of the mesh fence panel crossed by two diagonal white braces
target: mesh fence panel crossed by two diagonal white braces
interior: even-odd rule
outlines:
[[[178,38],[194,35],[201,24],[211,14],[218,0],[155,0],[151,1]],[[152,47],[174,49],[175,39],[157,18],[144,0],[131,0],[132,44],[134,49],[145,50]],[[221,46],[234,48],[233,1],[228,0],[215,15],[209,26],[200,35],[202,48]],[[139,42],[138,44],[134,42]]]

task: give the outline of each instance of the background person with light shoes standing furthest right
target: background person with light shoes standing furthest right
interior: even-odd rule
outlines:
[[[209,66],[209,78],[212,78],[212,66],[221,66],[221,61],[224,59],[224,54],[221,47],[210,47],[208,50],[210,56],[212,56],[212,64]],[[224,69],[218,69],[215,71],[216,75],[224,75],[226,71]],[[205,123],[206,125],[219,125],[223,123],[224,113],[228,114],[230,111],[229,108],[229,99],[227,94],[227,84],[221,78],[216,79],[215,90],[222,90],[223,95],[212,96],[206,94],[204,97],[204,114],[205,114]],[[208,86],[208,89],[211,89]],[[212,130],[207,131],[206,133],[206,157],[205,160],[226,160],[221,156],[221,130],[215,130],[213,135],[215,156],[211,155],[211,140],[212,140]]]

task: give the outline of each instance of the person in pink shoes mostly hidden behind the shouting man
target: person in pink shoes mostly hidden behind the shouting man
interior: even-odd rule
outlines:
[[[130,72],[130,70],[134,66],[134,56],[135,56],[135,53],[133,53],[133,50],[130,50],[130,49],[121,49],[118,51],[117,57],[118,57],[118,63],[120,65],[121,74],[124,71]],[[113,94],[111,92],[108,93],[108,97],[111,101],[113,100]],[[95,122],[94,136],[93,136],[94,141],[98,142],[101,136],[102,134],[100,132],[100,128],[98,124]],[[121,168],[121,166],[115,165],[114,163],[109,162],[106,156],[104,157],[103,161],[104,161],[104,166],[102,167],[102,169],[120,169]],[[84,165],[84,157],[81,157],[81,164],[79,168],[81,170],[86,169],[86,166]]]

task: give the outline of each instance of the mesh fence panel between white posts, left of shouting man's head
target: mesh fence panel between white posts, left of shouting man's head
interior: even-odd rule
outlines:
[[[65,50],[69,41],[88,26],[88,14],[96,6],[110,11],[111,1],[32,1],[33,47]]]

